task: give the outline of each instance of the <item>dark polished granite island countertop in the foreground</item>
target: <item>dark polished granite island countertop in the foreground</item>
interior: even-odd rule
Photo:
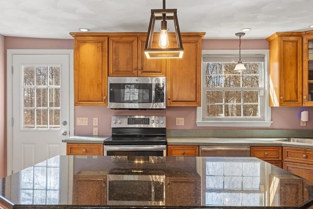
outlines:
[[[257,158],[123,158],[121,163],[114,156],[56,156],[23,169],[0,179],[0,208],[313,206],[313,182]]]

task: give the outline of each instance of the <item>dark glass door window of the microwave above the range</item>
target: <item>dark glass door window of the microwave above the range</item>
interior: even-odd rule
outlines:
[[[110,102],[152,103],[152,84],[110,84]]]

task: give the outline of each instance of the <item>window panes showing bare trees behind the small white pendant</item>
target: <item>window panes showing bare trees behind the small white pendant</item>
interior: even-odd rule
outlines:
[[[263,63],[245,63],[247,71],[234,73],[235,63],[207,62],[206,117],[259,117],[259,69]]]

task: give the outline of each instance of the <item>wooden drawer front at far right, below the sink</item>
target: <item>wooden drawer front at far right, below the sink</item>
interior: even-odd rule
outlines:
[[[313,149],[284,147],[283,153],[284,161],[313,164]]]

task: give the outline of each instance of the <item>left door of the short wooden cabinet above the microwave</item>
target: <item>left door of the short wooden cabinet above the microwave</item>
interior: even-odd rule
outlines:
[[[137,76],[137,37],[109,38],[109,76]]]

